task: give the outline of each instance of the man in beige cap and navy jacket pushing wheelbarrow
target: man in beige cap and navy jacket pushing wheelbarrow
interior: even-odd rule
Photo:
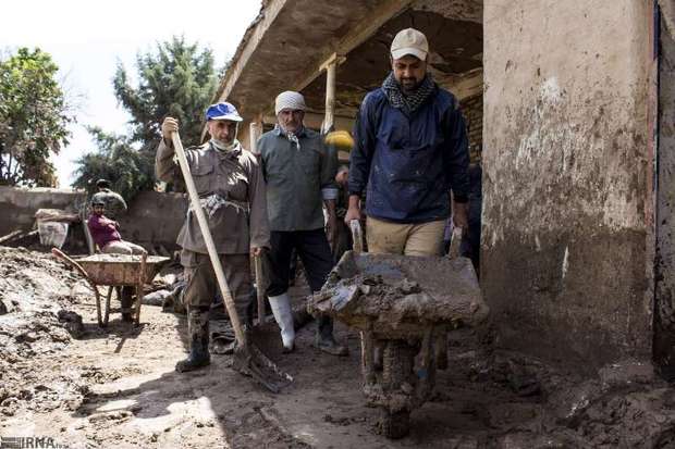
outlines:
[[[391,46],[392,72],[369,92],[354,127],[349,207],[360,219],[366,190],[368,251],[435,255],[452,212],[467,226],[468,140],[457,99],[427,72],[429,45],[407,28]]]

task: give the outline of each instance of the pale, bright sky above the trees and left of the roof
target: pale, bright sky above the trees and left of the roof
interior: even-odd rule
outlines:
[[[222,66],[259,10],[260,0],[3,2],[0,50],[7,54],[19,47],[39,47],[50,53],[76,108],[70,145],[52,158],[60,187],[73,182],[74,161],[96,149],[85,125],[115,133],[126,129],[130,117],[112,90],[118,62],[134,75],[138,52],[154,51],[158,42],[182,35],[187,42],[210,47],[216,65]]]

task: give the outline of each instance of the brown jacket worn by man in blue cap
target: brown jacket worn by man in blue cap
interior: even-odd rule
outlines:
[[[241,146],[221,153],[210,142],[188,148],[185,155],[217,251],[243,254],[250,248],[269,248],[265,180],[256,158]],[[170,141],[160,142],[155,172],[167,183],[182,176]],[[208,252],[192,204],[177,244],[189,251]]]

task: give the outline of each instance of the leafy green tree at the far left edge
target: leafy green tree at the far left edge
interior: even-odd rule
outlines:
[[[57,185],[50,154],[68,145],[68,125],[74,122],[59,67],[39,50],[20,48],[0,60],[0,184]]]

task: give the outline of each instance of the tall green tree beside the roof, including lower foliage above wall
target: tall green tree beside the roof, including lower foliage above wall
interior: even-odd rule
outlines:
[[[91,189],[93,180],[107,178],[127,200],[151,189],[160,125],[168,115],[179,120],[183,141],[199,142],[204,111],[218,86],[211,50],[173,37],[154,52],[138,53],[136,65],[136,86],[122,64],[113,78],[115,97],[131,115],[127,135],[89,129],[98,151],[77,161],[74,186]]]

